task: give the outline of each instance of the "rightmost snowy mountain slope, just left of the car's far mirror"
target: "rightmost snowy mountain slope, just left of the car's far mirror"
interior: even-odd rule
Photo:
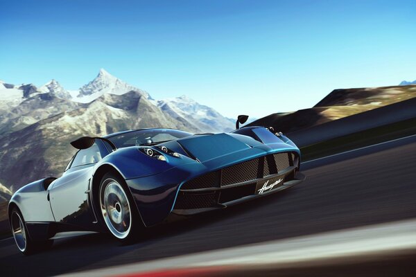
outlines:
[[[159,100],[157,107],[173,118],[188,121],[204,132],[227,132],[234,129],[228,118],[187,96]]]

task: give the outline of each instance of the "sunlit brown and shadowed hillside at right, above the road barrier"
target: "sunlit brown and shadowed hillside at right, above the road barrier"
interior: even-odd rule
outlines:
[[[272,126],[281,132],[294,132],[414,97],[416,85],[335,89],[310,109],[270,114],[248,125]]]

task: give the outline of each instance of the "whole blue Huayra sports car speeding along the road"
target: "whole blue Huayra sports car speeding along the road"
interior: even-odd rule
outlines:
[[[121,242],[141,229],[226,208],[304,180],[300,150],[280,132],[242,127],[222,134],[139,129],[71,142],[62,177],[19,189],[8,206],[22,253],[66,231],[107,231]]]

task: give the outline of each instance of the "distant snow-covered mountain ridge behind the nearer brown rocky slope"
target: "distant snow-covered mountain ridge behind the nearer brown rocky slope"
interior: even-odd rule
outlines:
[[[1,81],[0,130],[5,132],[3,134],[15,132],[63,111],[78,109],[102,96],[104,99],[110,96],[125,96],[130,91],[143,96],[148,103],[162,111],[162,114],[179,121],[180,123],[175,124],[182,125],[185,129],[193,129],[196,132],[225,132],[234,129],[233,120],[187,96],[153,100],[146,91],[133,87],[101,69],[94,80],[76,91],[67,91],[56,80],[47,82],[39,89],[33,84],[17,87]],[[128,102],[128,97],[125,98],[124,102]],[[143,111],[141,116],[146,117],[146,112]]]

